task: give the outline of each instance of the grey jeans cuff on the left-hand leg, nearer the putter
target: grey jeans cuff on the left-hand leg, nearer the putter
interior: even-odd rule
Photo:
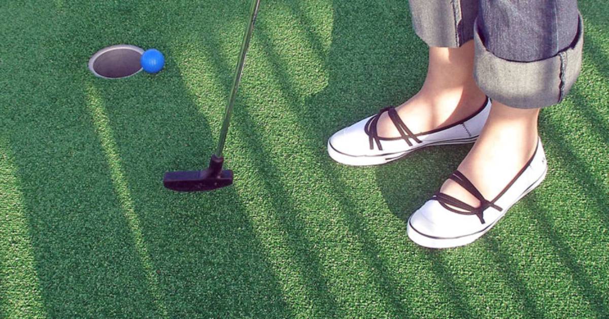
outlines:
[[[428,46],[460,47],[473,38],[478,2],[409,0],[412,26]]]

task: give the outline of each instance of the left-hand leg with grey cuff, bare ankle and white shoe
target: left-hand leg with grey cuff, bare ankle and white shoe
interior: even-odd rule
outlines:
[[[473,76],[477,0],[409,0],[417,35],[429,46],[423,87],[398,107],[337,131],[328,154],[353,166],[384,164],[438,144],[470,143],[490,103]]]

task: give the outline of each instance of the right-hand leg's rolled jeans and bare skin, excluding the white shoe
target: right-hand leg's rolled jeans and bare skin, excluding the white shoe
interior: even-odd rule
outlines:
[[[481,1],[474,68],[493,106],[458,170],[485,198],[499,194],[527,163],[537,147],[540,108],[560,102],[576,79],[579,26],[575,0]],[[479,203],[452,180],[441,192]]]

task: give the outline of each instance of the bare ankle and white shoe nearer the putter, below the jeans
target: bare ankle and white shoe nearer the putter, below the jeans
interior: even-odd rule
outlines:
[[[473,41],[456,49],[429,48],[421,90],[399,107],[334,134],[329,155],[339,163],[384,164],[426,145],[476,140],[488,115],[486,96],[473,78]]]

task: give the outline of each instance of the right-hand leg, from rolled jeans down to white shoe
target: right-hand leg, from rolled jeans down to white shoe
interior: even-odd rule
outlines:
[[[408,235],[425,247],[473,242],[543,181],[540,108],[560,102],[581,67],[576,0],[480,1],[474,77],[493,105],[470,153],[410,216]]]

